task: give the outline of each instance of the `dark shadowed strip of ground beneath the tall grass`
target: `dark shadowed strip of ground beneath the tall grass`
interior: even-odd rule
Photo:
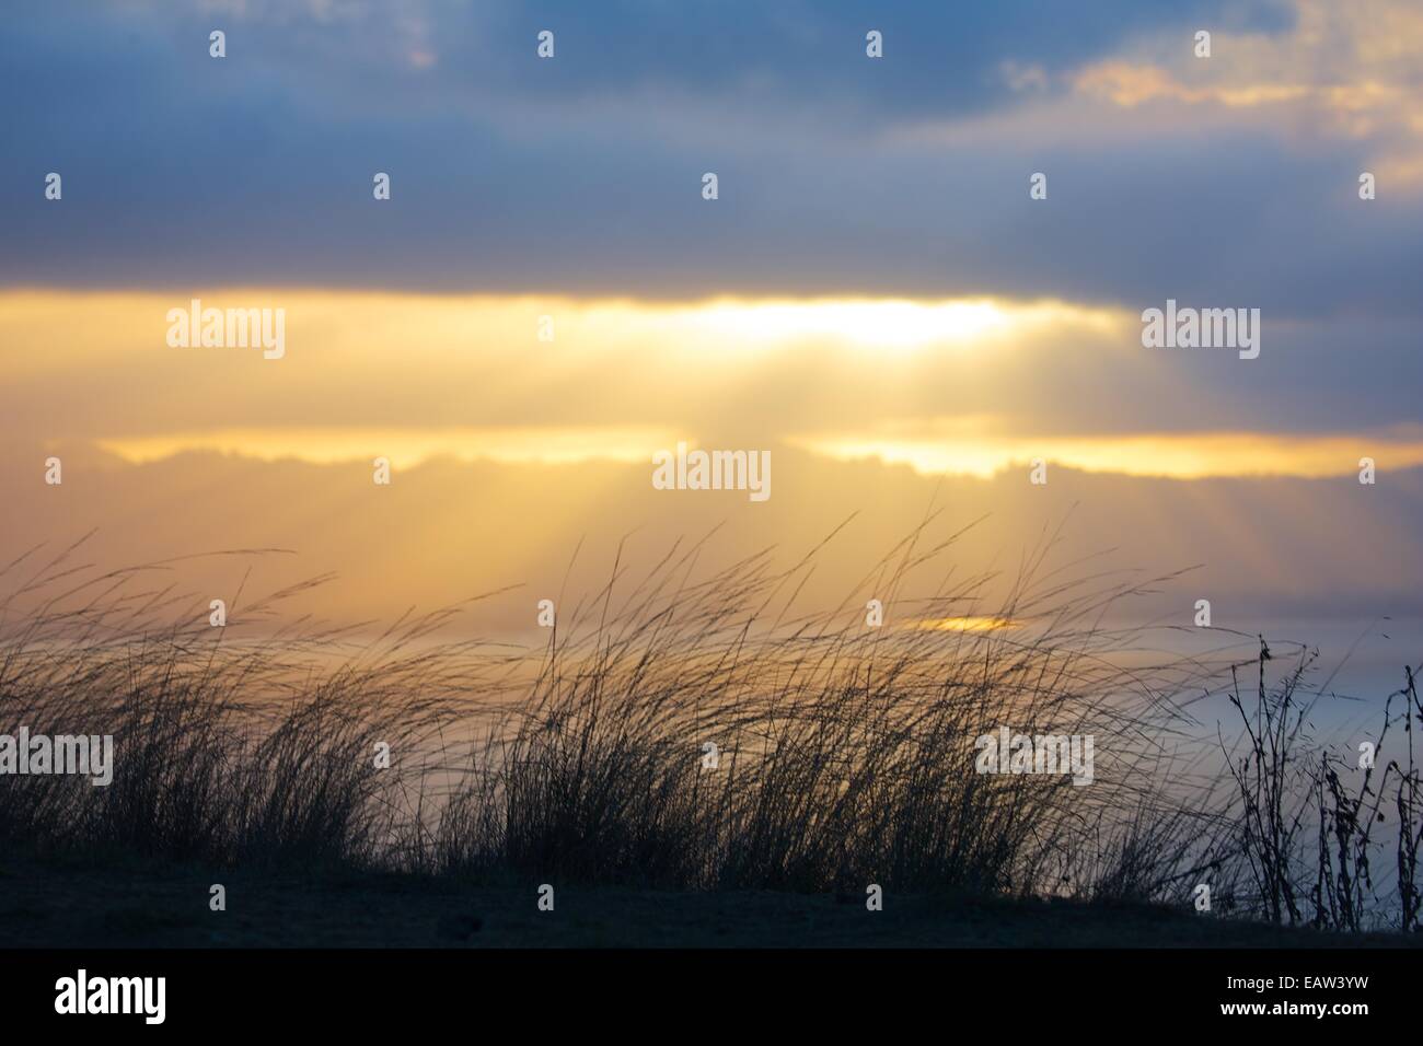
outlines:
[[[228,889],[225,912],[208,908],[213,882]],[[1423,945],[1416,934],[1279,929],[1147,905],[887,894],[884,911],[869,912],[862,897],[555,888],[555,911],[539,912],[536,882],[100,868],[0,855],[0,948]]]

